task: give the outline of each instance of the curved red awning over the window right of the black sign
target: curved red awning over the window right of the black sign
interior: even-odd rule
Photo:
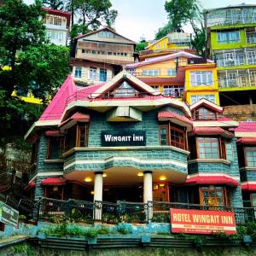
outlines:
[[[183,115],[180,115],[175,112],[171,111],[160,111],[158,113],[158,119],[160,121],[172,121],[172,123],[176,125],[181,125],[183,127],[187,127],[190,131],[192,129],[192,121],[190,121],[188,118],[186,118]]]

